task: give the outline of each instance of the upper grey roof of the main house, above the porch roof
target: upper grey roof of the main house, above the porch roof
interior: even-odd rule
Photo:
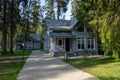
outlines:
[[[78,21],[45,19],[44,22],[48,28],[51,28],[53,30],[72,30]]]

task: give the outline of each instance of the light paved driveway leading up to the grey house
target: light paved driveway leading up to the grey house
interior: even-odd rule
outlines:
[[[51,57],[41,51],[33,51],[19,73],[17,80],[98,80],[60,58]]]

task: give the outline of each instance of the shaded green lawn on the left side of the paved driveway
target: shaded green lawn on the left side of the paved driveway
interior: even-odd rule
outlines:
[[[29,56],[31,51],[25,51],[26,56]],[[18,52],[18,54],[20,54]],[[16,52],[16,55],[18,55]],[[7,55],[8,56],[8,55]],[[13,59],[0,59],[0,80],[16,80],[16,77],[22,69],[27,57],[13,58]]]

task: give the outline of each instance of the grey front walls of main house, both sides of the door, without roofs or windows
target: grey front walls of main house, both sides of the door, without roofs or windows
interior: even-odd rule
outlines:
[[[49,29],[48,25],[45,25],[44,27],[44,50],[48,53],[51,54],[58,54],[58,53],[65,53],[65,38],[63,38],[63,46],[59,46],[57,45],[57,38],[51,38],[50,37],[50,32],[51,30]],[[87,50],[89,53],[91,54],[96,54],[97,53],[97,37],[92,35],[92,32],[87,32],[87,28],[84,27],[84,32],[78,32],[77,31],[77,26],[76,29],[74,29],[72,31],[72,33],[76,36],[76,38],[72,39],[70,38],[70,49],[73,52],[76,52],[78,54],[81,54],[84,50]],[[85,49],[78,49],[78,41],[77,38],[78,37],[84,37],[84,45],[85,45]],[[89,50],[87,49],[87,45],[88,45],[88,37],[93,37],[94,38],[94,49],[93,50]],[[59,49],[58,49],[59,47]],[[60,50],[61,49],[61,50]],[[58,54],[59,55],[59,54]]]

